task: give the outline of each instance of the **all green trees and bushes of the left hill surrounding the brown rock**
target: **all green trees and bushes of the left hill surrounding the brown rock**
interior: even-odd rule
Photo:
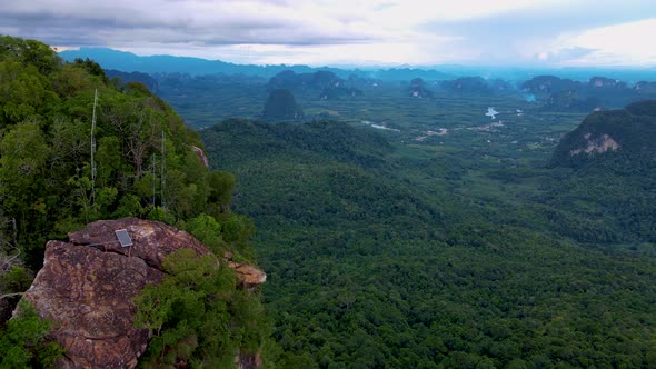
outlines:
[[[233,363],[267,337],[257,289],[237,291],[226,268],[216,286],[189,275],[216,276],[219,257],[252,260],[254,225],[230,210],[233,177],[207,168],[198,134],[166,102],[141,83],[117,82],[92,60],[64,62],[42,42],[0,37],[0,367],[42,367],[63,352],[43,342],[48,322],[24,299],[6,319],[41,268],[46,241],[101,219],[163,221],[212,251],[173,253],[161,288],[125,301],[148,311],[149,365]],[[218,311],[227,319],[212,320]]]

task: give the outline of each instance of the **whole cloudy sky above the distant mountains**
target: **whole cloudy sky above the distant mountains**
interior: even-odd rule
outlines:
[[[239,63],[656,66],[654,0],[0,0],[0,34]]]

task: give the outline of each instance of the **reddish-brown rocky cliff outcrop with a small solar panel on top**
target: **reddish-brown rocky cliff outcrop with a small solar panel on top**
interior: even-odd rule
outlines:
[[[119,229],[127,230],[132,246],[118,242]],[[161,281],[163,259],[180,249],[210,252],[185,231],[136,218],[97,221],[70,233],[68,242],[49,241],[43,268],[23,298],[54,322],[51,336],[66,349],[58,367],[133,368],[150,332],[133,327],[132,298]],[[266,280],[261,270],[247,263],[223,262],[243,286]]]

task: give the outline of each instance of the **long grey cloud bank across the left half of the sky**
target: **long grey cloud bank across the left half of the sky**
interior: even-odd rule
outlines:
[[[376,38],[358,34],[346,24],[325,30],[312,20],[295,14],[287,1],[251,2],[250,8],[233,1],[118,1],[116,3],[20,1],[6,4],[0,23],[14,27],[19,36],[39,38],[50,43],[89,46],[108,44],[147,37],[143,42],[207,44],[339,44],[368,42]],[[193,7],[196,8],[193,8]],[[288,6],[288,7],[286,7]],[[261,11],[259,8],[261,8]],[[282,14],[276,17],[271,11]]]

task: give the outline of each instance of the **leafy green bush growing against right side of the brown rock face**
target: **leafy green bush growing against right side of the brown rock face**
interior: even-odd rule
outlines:
[[[213,255],[198,257],[190,249],[168,256],[163,269],[163,281],[136,299],[137,327],[155,332],[143,367],[225,368],[238,352],[257,352],[267,332],[259,297],[238,290],[230,269]]]

